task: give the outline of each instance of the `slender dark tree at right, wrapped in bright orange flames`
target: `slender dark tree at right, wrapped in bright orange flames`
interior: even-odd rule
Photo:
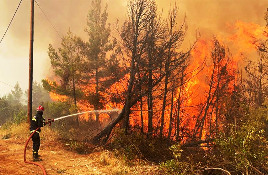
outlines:
[[[234,92],[232,82],[236,78],[233,73],[236,70],[233,70],[229,50],[221,45],[216,38],[213,40],[210,61],[207,63],[206,101],[197,115],[194,128],[194,137],[198,134],[199,140],[211,138],[213,134],[218,132],[219,122],[224,120],[222,111],[226,111],[224,103],[226,98],[231,97]]]

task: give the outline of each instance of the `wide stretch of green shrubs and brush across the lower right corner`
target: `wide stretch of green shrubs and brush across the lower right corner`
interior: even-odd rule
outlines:
[[[215,167],[238,174],[249,171],[267,174],[268,139],[262,126],[255,121],[230,124],[229,130],[217,135],[211,149],[195,153],[174,144],[169,148],[174,159],[160,162],[160,168],[165,174],[201,174],[201,171],[205,174],[209,172],[206,168]],[[218,174],[219,171],[214,169],[210,173]]]

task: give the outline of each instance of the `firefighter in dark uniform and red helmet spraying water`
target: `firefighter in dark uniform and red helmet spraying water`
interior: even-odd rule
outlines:
[[[45,108],[43,106],[38,106],[37,112],[35,116],[31,120],[31,126],[30,126],[30,134],[35,131],[38,127],[43,127],[46,126],[46,124],[50,122],[46,122],[45,118],[43,118],[43,112]],[[40,135],[39,133],[41,132],[41,129],[38,129],[34,135],[32,136],[32,141],[33,141],[33,161],[34,162],[40,162],[42,159],[40,158],[40,155],[38,154],[38,150],[40,147]]]

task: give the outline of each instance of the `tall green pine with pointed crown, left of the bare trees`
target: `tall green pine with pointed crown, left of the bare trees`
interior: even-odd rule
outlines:
[[[86,95],[85,100],[94,110],[101,110],[107,104],[107,91],[120,77],[119,60],[116,55],[120,48],[116,47],[116,40],[110,40],[110,23],[107,22],[107,4],[101,12],[100,0],[92,1],[92,8],[88,11],[87,27],[88,41],[84,42],[83,53],[86,59],[83,63],[82,86]],[[111,52],[110,58],[107,53]],[[118,73],[118,74],[116,74]],[[105,96],[105,97],[104,97]],[[99,114],[95,113],[96,122]]]

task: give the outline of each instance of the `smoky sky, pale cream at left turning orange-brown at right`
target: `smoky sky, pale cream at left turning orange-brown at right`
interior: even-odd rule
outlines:
[[[20,0],[0,0],[0,37],[2,38]],[[84,32],[91,0],[36,0],[34,7],[34,49],[33,81],[53,76],[47,51],[49,44],[61,47],[60,36],[70,29],[75,35],[87,40]],[[126,19],[126,0],[102,0],[102,7],[108,4],[108,22],[119,25]],[[214,35],[231,48],[231,52],[252,54],[252,48],[237,46],[241,43],[238,33],[243,26],[254,26],[261,30],[266,25],[264,14],[267,0],[156,0],[163,17],[167,17],[170,5],[176,2],[179,7],[178,24],[186,15],[188,25],[185,47],[193,42],[196,30],[201,41],[211,40]],[[239,27],[240,26],[240,27]],[[260,30],[260,34],[261,31]],[[59,36],[59,35],[60,36]],[[21,89],[28,89],[29,81],[29,36],[30,0],[22,0],[19,9],[0,43],[0,97],[14,90],[18,82]],[[229,39],[228,39],[229,38]],[[242,38],[243,39],[243,38]],[[230,42],[232,40],[232,42]],[[235,40],[235,42],[233,42]],[[236,50],[235,50],[236,49]]]

